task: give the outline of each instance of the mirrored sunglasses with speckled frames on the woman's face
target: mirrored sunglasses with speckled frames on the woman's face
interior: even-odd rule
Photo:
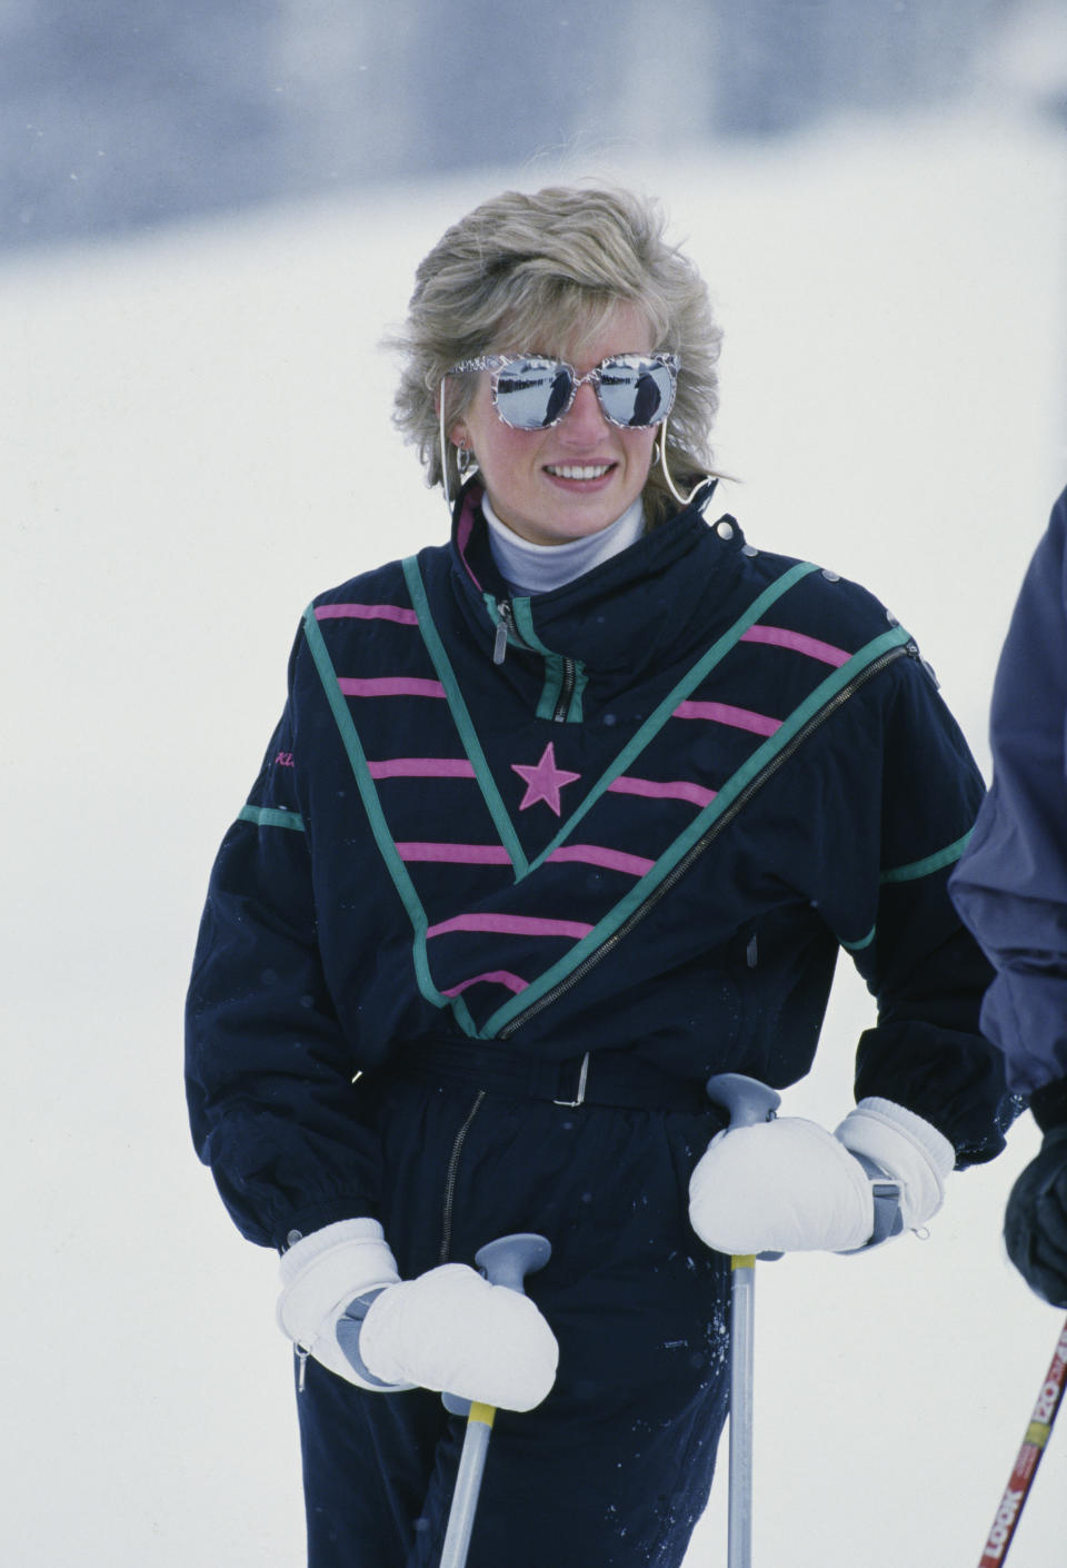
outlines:
[[[489,370],[492,406],[512,430],[558,425],[586,381],[609,423],[647,430],[671,412],[678,365],[677,354],[613,354],[580,376],[566,361],[542,354],[483,354],[461,361],[448,373]]]

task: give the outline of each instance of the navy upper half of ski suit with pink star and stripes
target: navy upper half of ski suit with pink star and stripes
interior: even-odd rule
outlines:
[[[857,1093],[960,1165],[1003,1146],[946,892],[967,745],[877,599],[708,525],[708,494],[509,597],[468,486],[450,544],[309,607],[188,999],[196,1146],[254,1240],[376,1212],[359,1074],[501,1041],[783,1088],[840,947],[879,1008]]]

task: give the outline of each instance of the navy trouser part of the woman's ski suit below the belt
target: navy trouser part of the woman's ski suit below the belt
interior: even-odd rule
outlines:
[[[376,1090],[381,1220],[403,1278],[537,1231],[526,1278],[559,1341],[550,1396],[500,1411],[468,1568],[677,1568],[729,1396],[729,1259],[688,1221],[710,1112],[556,1105],[473,1085]],[[431,1568],[464,1421],[439,1394],[370,1394],[306,1364],[309,1568]]]

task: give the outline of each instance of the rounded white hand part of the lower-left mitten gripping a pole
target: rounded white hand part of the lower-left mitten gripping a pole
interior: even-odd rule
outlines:
[[[461,1399],[533,1410],[556,1380],[559,1347],[530,1297],[442,1264],[384,1290],[359,1353],[384,1383],[418,1383]]]

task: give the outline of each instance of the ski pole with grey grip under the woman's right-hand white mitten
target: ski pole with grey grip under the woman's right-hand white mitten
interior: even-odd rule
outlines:
[[[719,1073],[707,1082],[708,1099],[722,1105],[730,1127],[772,1121],[782,1104],[777,1090],[743,1073]],[[780,1253],[761,1253],[779,1258]],[[755,1258],[730,1259],[730,1504],[727,1568],[752,1568],[752,1385],[755,1330]]]

